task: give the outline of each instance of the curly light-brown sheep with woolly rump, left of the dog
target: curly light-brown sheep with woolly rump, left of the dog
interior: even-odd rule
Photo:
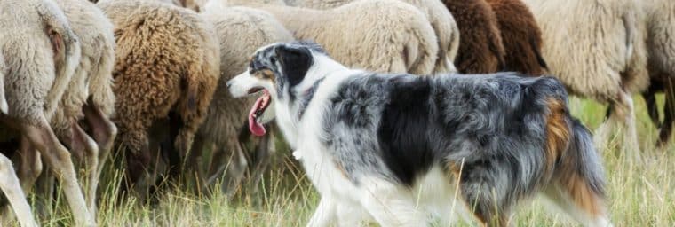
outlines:
[[[115,143],[127,148],[129,180],[144,192],[147,185],[139,180],[153,168],[149,157],[155,140],[148,130],[171,121],[167,149],[188,155],[216,90],[218,41],[197,13],[174,5],[120,0],[98,6],[115,27]]]

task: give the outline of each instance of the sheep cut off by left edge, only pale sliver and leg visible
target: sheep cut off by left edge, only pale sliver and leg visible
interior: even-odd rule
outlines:
[[[4,97],[4,74],[7,68],[4,65],[4,58],[0,52],[0,113],[7,114],[9,106],[7,99]],[[12,160],[0,153],[0,190],[4,192],[4,196],[9,200],[14,215],[17,216],[21,226],[37,226],[36,219],[33,217],[33,212],[30,211],[26,195],[21,190],[19,178],[16,176]],[[7,213],[4,213],[7,214]]]

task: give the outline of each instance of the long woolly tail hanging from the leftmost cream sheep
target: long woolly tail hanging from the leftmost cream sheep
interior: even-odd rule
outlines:
[[[47,94],[45,115],[50,119],[58,100],[63,95],[69,84],[70,77],[75,74],[75,68],[80,64],[80,43],[77,36],[70,28],[66,15],[51,1],[41,1],[36,5],[36,11],[44,21],[44,32],[52,43],[54,53],[54,67],[56,77],[52,84],[52,90]]]

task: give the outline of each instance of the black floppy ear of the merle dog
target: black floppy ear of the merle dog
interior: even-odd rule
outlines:
[[[304,46],[279,45],[274,49],[274,54],[282,66],[283,76],[287,78],[291,87],[302,82],[309,67],[314,63],[312,52]]]

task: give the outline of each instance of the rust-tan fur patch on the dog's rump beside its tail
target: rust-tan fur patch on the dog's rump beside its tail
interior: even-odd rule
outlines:
[[[549,98],[546,100],[549,114],[546,117],[546,156],[545,171],[552,174],[555,163],[568,149],[570,133],[568,123],[565,121],[567,114],[565,104],[559,99]]]

